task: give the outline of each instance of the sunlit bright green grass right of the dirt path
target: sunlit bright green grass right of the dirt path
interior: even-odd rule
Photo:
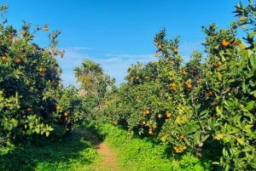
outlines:
[[[100,128],[102,134],[107,134],[105,141],[117,153],[119,163],[125,171],[211,170],[210,161],[200,160],[193,155],[172,156],[172,151],[165,145],[147,138],[132,137],[125,130],[111,124]]]

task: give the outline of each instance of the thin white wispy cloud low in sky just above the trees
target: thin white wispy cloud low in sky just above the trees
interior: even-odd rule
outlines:
[[[179,51],[185,61],[190,59],[190,55],[194,50],[202,50],[201,43],[181,43]],[[127,69],[132,64],[136,64],[137,61],[144,64],[152,60],[158,60],[154,58],[154,54],[125,54],[123,52],[106,52],[101,49],[88,48],[88,47],[71,47],[65,48],[64,58],[59,60],[60,66],[63,70],[61,75],[64,80],[64,84],[78,85],[73,76],[73,68],[81,66],[83,60],[93,60],[100,64],[110,77],[116,79],[116,84],[124,83],[124,77],[127,75]]]

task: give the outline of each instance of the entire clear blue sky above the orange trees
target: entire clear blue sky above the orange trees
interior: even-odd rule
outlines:
[[[194,50],[203,51],[201,26],[216,23],[229,27],[235,20],[237,0],[2,0],[9,5],[9,25],[19,30],[22,20],[32,27],[49,24],[61,30],[57,48],[65,49],[60,66],[64,85],[74,84],[73,68],[84,59],[99,63],[117,85],[131,64],[154,58],[154,35],[166,28],[167,38],[180,35],[179,52],[189,60]],[[241,0],[246,4],[247,0]],[[48,46],[47,33],[36,34],[41,47]]]

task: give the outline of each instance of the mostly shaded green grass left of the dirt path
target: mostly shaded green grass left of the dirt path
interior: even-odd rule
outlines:
[[[38,138],[32,143],[0,151],[0,170],[93,170],[97,158],[96,150],[83,135],[73,132],[60,139]]]

